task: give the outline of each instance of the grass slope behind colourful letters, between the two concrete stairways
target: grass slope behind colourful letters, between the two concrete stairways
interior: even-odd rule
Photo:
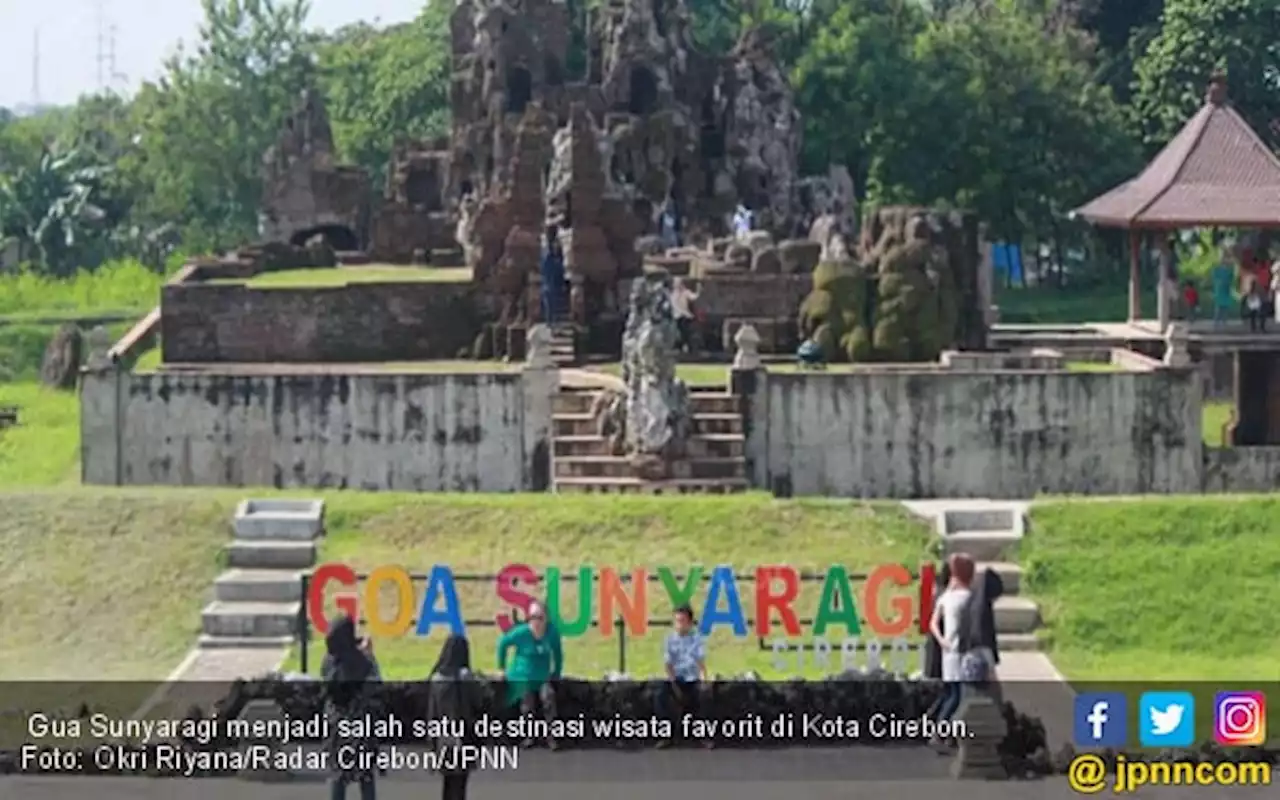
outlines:
[[[881,563],[897,562],[913,571],[929,558],[931,532],[896,506],[872,507],[837,500],[774,500],[765,495],[723,497],[575,497],[575,495],[404,495],[388,506],[387,495],[334,498],[328,512],[329,534],[323,561],[339,561],[357,571],[379,564],[401,564],[426,572],[434,563],[451,564],[456,573],[492,573],[508,563],[527,563],[539,572],[557,564],[566,572],[579,564],[635,567],[671,566],[684,573],[691,564],[710,568],[730,563],[741,570],[762,563],[788,563],[818,570],[831,563],[865,572]],[[576,609],[572,584],[564,585],[562,607]],[[332,586],[326,595],[338,591]],[[421,602],[422,582],[417,585]],[[649,586],[649,618],[666,620],[669,604],[660,585]],[[705,598],[694,603],[700,611]],[[754,617],[751,585],[740,586],[744,608]],[[855,585],[855,593],[860,591]],[[914,591],[914,590],[913,590]],[[385,589],[383,613],[398,608],[394,591]],[[489,620],[499,611],[492,582],[458,582],[462,616]],[[812,617],[820,594],[819,584],[805,584],[796,611]],[[855,594],[855,596],[860,596]],[[332,608],[332,607],[330,607]],[[599,612],[593,599],[593,616]],[[573,612],[567,612],[573,613]],[[886,613],[888,613],[886,611]],[[632,675],[660,673],[659,648],[664,628],[653,628],[644,639],[628,637],[627,671]],[[833,641],[842,628],[828,632]],[[375,640],[379,662],[394,678],[419,678],[430,672],[444,640],[444,631],[428,637],[410,634],[402,639]],[[477,664],[493,671],[493,627],[468,626]],[[808,640],[808,639],[806,639]],[[591,630],[566,641],[567,672],[603,676],[617,668],[617,637]],[[315,643],[310,671],[319,668],[323,643]],[[838,654],[837,654],[838,655]],[[792,655],[794,658],[794,655]],[[918,655],[911,654],[910,668]],[[755,669],[765,676],[786,677],[773,668],[773,654],[760,652],[754,637],[733,639],[717,631],[710,641],[710,668],[731,673]],[[291,668],[298,668],[297,653]],[[805,673],[814,673],[805,669]],[[817,671],[817,673],[829,673]]]

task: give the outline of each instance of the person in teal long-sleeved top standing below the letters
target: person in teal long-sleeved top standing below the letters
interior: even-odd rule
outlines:
[[[509,659],[507,654],[515,650]],[[498,640],[498,669],[507,678],[507,704],[520,704],[520,713],[527,719],[556,721],[556,681],[564,669],[564,652],[559,631],[547,618],[547,608],[540,603],[529,605],[529,622],[513,626]],[[525,739],[531,748],[534,737]],[[558,749],[556,737],[548,731],[547,746]]]

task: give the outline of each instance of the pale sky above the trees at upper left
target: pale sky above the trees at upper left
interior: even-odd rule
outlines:
[[[332,29],[366,20],[412,19],[425,0],[311,0],[311,23]],[[127,91],[155,78],[178,42],[192,40],[200,0],[0,0],[0,106],[32,100],[32,51],[40,29],[40,99],[74,102],[97,88],[99,8],[115,24],[113,87]],[[104,26],[104,28],[106,27]],[[106,68],[104,68],[104,72]]]

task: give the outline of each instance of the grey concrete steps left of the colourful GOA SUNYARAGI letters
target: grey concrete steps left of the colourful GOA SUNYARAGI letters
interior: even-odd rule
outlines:
[[[324,534],[321,500],[246,500],[227,548],[229,570],[214,582],[198,646],[287,648],[298,630],[302,575]]]

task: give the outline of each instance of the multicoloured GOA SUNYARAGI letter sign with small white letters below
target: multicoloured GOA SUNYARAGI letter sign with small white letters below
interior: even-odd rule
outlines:
[[[833,666],[837,660],[845,668],[861,666],[859,652],[864,650],[870,666],[881,666],[887,653],[886,666],[906,672],[908,636],[913,630],[919,634],[928,630],[936,591],[934,570],[927,564],[920,568],[919,577],[914,577],[902,564],[881,564],[865,573],[860,591],[855,591],[859,577],[844,566],[831,566],[824,573],[809,576],[785,564],[759,566],[745,573],[735,573],[728,566],[709,571],[696,564],[681,571],[659,566],[653,571],[640,567],[622,572],[584,564],[572,575],[556,566],[539,575],[527,564],[508,564],[494,576],[494,594],[506,607],[494,614],[494,623],[500,630],[509,628],[517,612],[527,612],[535,599],[541,599],[566,639],[582,636],[593,625],[604,636],[614,635],[620,625],[627,636],[645,636],[654,612],[660,614],[658,618],[666,618],[672,609],[689,604],[698,613],[703,635],[728,630],[737,637],[772,640],[778,669],[799,667],[806,658],[819,667]],[[570,603],[576,608],[566,608],[562,602],[562,584],[570,581],[594,588],[594,591],[575,593],[576,600]],[[333,596],[338,609],[356,618],[362,611],[372,636],[404,636],[410,628],[417,636],[429,636],[442,628],[458,635],[466,632],[457,581],[447,564],[434,564],[417,581],[404,567],[384,564],[369,573],[362,591],[352,591],[358,582],[358,573],[349,564],[326,563],[316,568],[307,591],[307,616],[320,634],[328,631],[325,594],[334,584],[342,588]],[[424,584],[421,595],[415,582]],[[707,591],[699,604],[695,595],[704,582]],[[800,602],[804,582],[820,582],[818,602],[810,607],[812,617],[805,616],[810,609],[803,608]],[[383,607],[388,586],[397,596],[394,609]],[[536,596],[532,593],[538,593]],[[748,603],[754,612],[750,621]],[[810,646],[797,648],[806,636]],[[840,652],[838,658],[833,650]]]

